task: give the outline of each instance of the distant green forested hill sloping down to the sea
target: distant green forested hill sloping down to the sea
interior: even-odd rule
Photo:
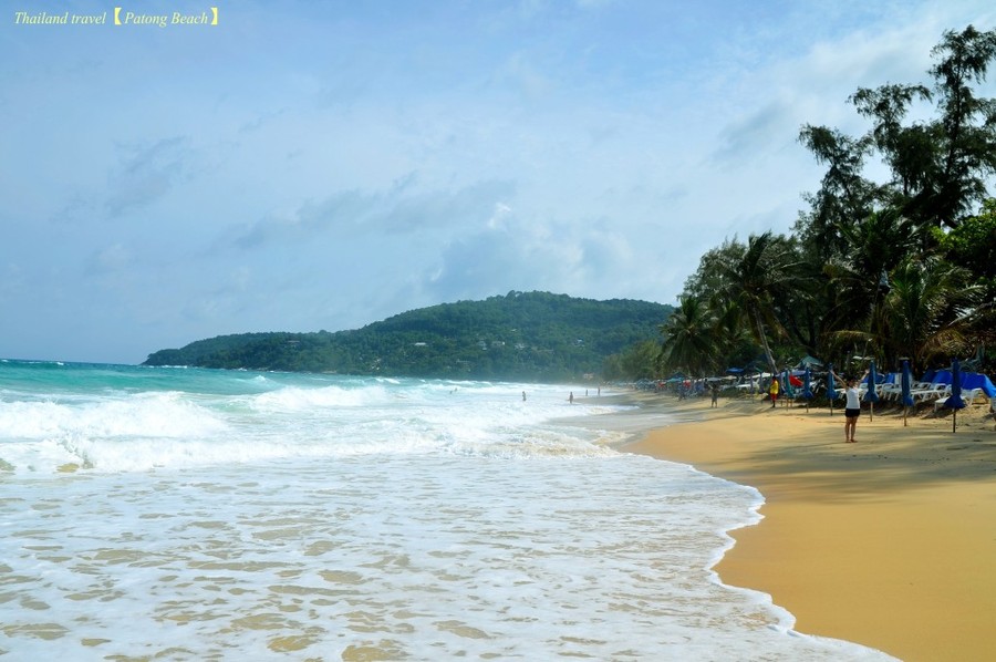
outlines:
[[[658,338],[673,308],[509,292],[412,310],[354,331],[241,333],[149,354],[143,365],[558,381]]]

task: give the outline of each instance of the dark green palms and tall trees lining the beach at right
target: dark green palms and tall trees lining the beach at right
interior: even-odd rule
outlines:
[[[996,368],[996,100],[978,94],[996,31],[947,31],[931,55],[926,82],[847,100],[864,134],[801,127],[826,166],[820,188],[790,234],[728,238],[702,256],[663,330],[658,373],[774,372],[806,355],[838,370]]]

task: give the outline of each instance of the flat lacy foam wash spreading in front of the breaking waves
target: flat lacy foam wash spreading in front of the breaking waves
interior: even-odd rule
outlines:
[[[722,531],[757,519],[757,494],[649,458],[50,480],[0,506],[0,648],[19,656],[883,659],[720,586]]]

